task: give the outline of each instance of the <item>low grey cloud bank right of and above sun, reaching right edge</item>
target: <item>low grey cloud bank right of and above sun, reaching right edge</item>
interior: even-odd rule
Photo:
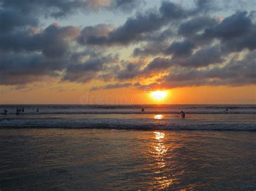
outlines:
[[[173,68],[161,86],[174,88],[182,86],[229,85],[240,86],[255,84],[256,57],[255,51],[248,53],[244,59],[233,58],[224,67],[216,66],[203,70]]]

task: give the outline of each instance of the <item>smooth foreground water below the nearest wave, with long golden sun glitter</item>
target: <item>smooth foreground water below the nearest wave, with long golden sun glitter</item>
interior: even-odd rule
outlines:
[[[0,189],[256,189],[255,131],[0,129]]]

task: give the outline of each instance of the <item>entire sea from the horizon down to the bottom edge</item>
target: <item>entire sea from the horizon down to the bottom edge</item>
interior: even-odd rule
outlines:
[[[256,105],[4,109],[0,190],[256,189]]]

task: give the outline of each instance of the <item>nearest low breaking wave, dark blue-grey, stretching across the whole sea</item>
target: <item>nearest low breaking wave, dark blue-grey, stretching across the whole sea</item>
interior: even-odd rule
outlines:
[[[183,119],[154,121],[152,119],[111,118],[9,118],[0,119],[1,128],[68,128],[68,129],[125,129],[125,130],[219,130],[256,131],[254,123],[197,122],[185,123]]]

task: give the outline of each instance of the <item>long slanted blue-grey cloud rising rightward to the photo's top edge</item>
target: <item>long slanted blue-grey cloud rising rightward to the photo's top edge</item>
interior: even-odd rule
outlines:
[[[84,39],[82,44],[126,45],[132,41],[145,40],[143,35],[157,31],[170,22],[176,22],[194,14],[196,14],[196,12],[186,10],[178,4],[165,1],[161,3],[159,10],[151,9],[143,13],[137,13],[136,17],[128,18],[122,26],[113,29],[111,32],[104,34],[103,36],[95,35],[84,37],[82,34],[80,39]],[[100,33],[101,31],[102,29],[99,29],[99,32],[97,33]]]

